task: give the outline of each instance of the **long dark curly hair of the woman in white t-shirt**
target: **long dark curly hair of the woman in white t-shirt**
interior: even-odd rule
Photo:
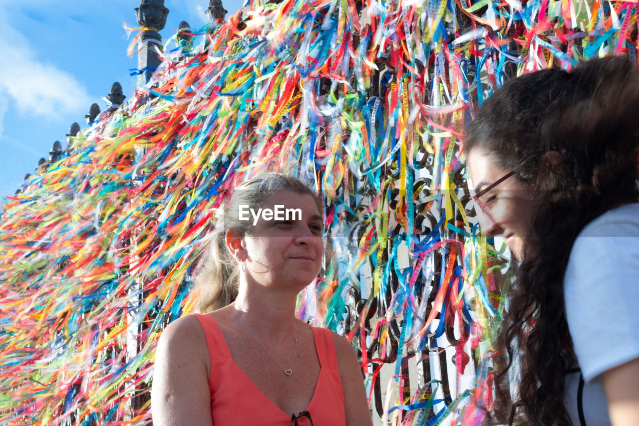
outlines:
[[[525,424],[570,425],[564,380],[576,360],[564,273],[586,224],[639,199],[636,66],[625,57],[606,57],[572,72],[543,70],[511,80],[477,110],[465,149],[481,150],[514,171],[537,199],[502,329],[509,361],[498,377],[520,354],[510,423],[520,416]],[[548,151],[561,154],[559,164],[548,164]]]

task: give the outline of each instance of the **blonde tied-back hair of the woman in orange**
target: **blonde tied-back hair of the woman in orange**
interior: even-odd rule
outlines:
[[[226,247],[226,232],[233,229],[243,236],[252,231],[250,220],[240,220],[240,206],[257,211],[268,197],[279,191],[293,191],[311,195],[321,213],[321,198],[299,179],[279,173],[266,173],[250,179],[236,188],[222,215],[218,218],[213,239],[194,277],[196,303],[195,312],[204,313],[233,303],[238,294],[240,271],[237,261]]]

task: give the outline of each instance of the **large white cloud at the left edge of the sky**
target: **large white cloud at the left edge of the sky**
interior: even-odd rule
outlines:
[[[4,105],[5,112],[12,103],[20,112],[59,118],[79,112],[91,103],[86,89],[70,73],[36,59],[26,38],[9,26],[3,11],[0,11],[0,43],[3,45],[0,105]]]

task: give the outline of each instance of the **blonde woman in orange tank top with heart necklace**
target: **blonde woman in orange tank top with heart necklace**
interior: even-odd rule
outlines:
[[[265,174],[236,189],[196,281],[200,310],[158,344],[151,409],[163,425],[372,425],[357,356],[295,317],[324,253],[321,200]]]

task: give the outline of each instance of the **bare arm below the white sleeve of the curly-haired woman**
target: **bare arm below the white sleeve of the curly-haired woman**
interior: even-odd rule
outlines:
[[[603,390],[613,426],[639,426],[639,358],[604,371]]]

